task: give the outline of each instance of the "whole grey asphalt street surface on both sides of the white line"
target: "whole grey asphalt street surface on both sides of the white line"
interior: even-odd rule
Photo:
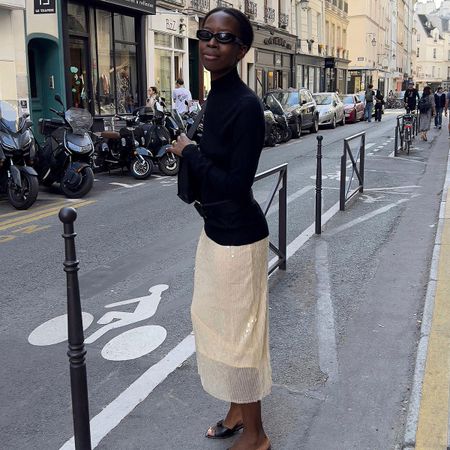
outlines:
[[[287,272],[270,279],[274,388],[264,410],[275,449],[373,450],[402,442],[448,150],[431,151],[439,137],[432,132],[409,156],[389,156],[395,114],[320,130],[329,217],[321,239],[308,239],[316,136],[263,152],[259,172],[289,164],[290,259]],[[336,214],[343,139],[360,131],[365,193]],[[94,442],[102,449],[225,449],[229,443],[203,438],[225,406],[202,391],[192,356],[201,219],[176,197],[176,178],[138,182],[116,172],[96,180],[81,201],[42,188],[33,208],[17,213],[0,200],[1,447],[56,449],[73,435],[64,317],[55,319],[66,311],[57,212],[73,204]],[[255,184],[259,201],[273,182]],[[277,214],[269,214],[276,241]],[[394,291],[398,303],[379,302]]]

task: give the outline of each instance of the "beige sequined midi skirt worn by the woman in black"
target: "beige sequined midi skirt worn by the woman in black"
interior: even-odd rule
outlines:
[[[270,393],[268,238],[222,246],[202,231],[191,315],[203,388],[234,403]]]

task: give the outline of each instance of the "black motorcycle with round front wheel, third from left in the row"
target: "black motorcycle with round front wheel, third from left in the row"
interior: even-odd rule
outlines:
[[[145,148],[145,137],[137,116],[120,116],[125,122],[119,131],[100,132],[95,141],[94,167],[102,170],[126,167],[137,180],[153,172],[151,153]]]

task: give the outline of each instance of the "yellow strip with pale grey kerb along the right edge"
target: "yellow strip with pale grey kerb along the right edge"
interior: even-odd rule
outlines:
[[[405,448],[449,449],[450,161],[433,251]],[[414,445],[415,444],[415,445]]]

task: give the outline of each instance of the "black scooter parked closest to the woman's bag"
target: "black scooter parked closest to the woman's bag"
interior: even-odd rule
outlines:
[[[163,100],[157,101],[154,109],[139,108],[136,116],[144,133],[145,148],[150,152],[154,164],[165,175],[176,175],[180,170],[180,159],[170,149],[171,142],[182,132],[179,125],[182,120],[179,118],[177,121],[174,113],[167,111],[164,106]]]

